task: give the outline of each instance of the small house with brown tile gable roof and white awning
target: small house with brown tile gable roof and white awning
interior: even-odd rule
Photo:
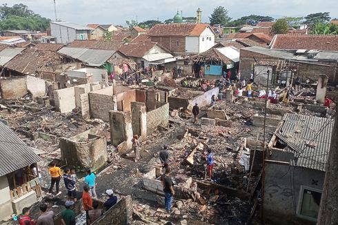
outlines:
[[[119,51],[134,60],[138,68],[175,61],[170,51],[156,42],[126,43],[119,48]]]

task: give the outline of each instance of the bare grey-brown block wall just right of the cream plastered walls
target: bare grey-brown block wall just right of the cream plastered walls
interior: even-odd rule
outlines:
[[[109,111],[117,110],[116,97],[112,95],[101,95],[99,93],[89,93],[90,114],[92,117],[109,121]]]

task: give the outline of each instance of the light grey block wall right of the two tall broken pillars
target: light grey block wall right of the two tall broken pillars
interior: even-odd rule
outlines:
[[[163,104],[162,106],[160,106]],[[150,135],[157,129],[157,126],[168,126],[169,104],[157,102],[159,108],[147,112],[147,135]]]

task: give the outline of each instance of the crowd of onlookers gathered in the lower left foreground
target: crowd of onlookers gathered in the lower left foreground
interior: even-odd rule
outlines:
[[[63,225],[75,225],[75,213],[72,210],[72,206],[77,202],[79,197],[77,193],[77,175],[74,169],[63,168],[63,174],[61,174],[61,168],[57,166],[55,162],[50,164],[50,188],[47,195],[53,195],[53,188],[56,186],[56,193],[54,196],[60,195],[59,190],[60,180],[63,178],[65,184],[68,199],[64,206],[65,210],[61,211],[61,222]],[[91,224],[97,218],[103,214],[103,209],[99,208],[99,202],[97,201],[96,187],[96,175],[90,169],[86,170],[86,177],[84,178],[84,186],[82,193],[83,209],[86,211],[86,224]],[[114,195],[112,189],[106,190],[108,199],[103,203],[103,208],[107,211],[109,208],[117,203],[117,196]],[[30,208],[23,208],[22,214],[19,215],[19,224],[21,225],[53,225],[55,214],[53,211],[48,211],[48,206],[45,203],[39,205],[41,215],[35,221],[30,217]]]

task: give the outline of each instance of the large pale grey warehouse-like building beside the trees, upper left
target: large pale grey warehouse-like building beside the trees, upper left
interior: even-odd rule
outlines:
[[[50,22],[50,33],[55,37],[56,43],[70,43],[74,40],[90,39],[92,28],[81,26],[76,23]]]

